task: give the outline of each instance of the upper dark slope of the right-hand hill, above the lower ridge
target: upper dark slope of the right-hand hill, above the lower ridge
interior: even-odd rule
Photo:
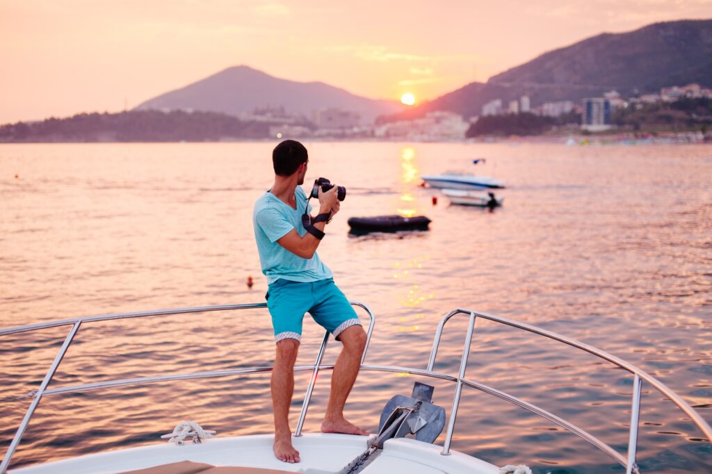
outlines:
[[[712,86],[712,20],[654,23],[603,33],[495,75],[498,85],[616,88],[649,93],[696,82]]]

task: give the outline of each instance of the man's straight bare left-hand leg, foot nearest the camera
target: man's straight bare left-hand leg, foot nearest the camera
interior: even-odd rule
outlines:
[[[294,363],[299,341],[282,339],[277,343],[277,354],[272,369],[272,406],[274,409],[274,455],[286,463],[298,463],[299,451],[292,446],[289,428],[289,406],[294,392]]]

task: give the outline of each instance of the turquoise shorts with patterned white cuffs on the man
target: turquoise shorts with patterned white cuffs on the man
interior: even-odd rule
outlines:
[[[347,327],[361,325],[333,278],[310,283],[280,278],[269,285],[265,298],[272,316],[275,342],[282,339],[301,341],[305,312],[337,339]]]

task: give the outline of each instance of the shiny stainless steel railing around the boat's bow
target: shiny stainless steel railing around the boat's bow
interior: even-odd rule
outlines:
[[[373,313],[370,310],[370,308],[367,307],[367,305],[363,304],[362,302],[351,302],[351,304],[362,307],[370,317],[370,324],[369,324],[369,327],[367,330],[366,348],[365,348],[364,353],[361,358],[361,369],[362,370],[376,371],[376,372],[407,373],[407,374],[413,374],[413,375],[417,375],[417,376],[426,376],[426,377],[430,377],[430,378],[434,378],[434,379],[453,381],[456,383],[456,391],[455,391],[455,395],[453,398],[451,416],[449,418],[448,428],[447,428],[446,435],[445,435],[443,451],[441,452],[442,455],[450,454],[450,446],[451,446],[452,436],[454,433],[454,426],[455,426],[457,412],[459,411],[459,402],[460,402],[463,386],[468,386],[473,389],[483,391],[486,394],[496,396],[499,399],[508,401],[511,404],[514,404],[516,406],[520,406],[520,408],[528,410],[534,414],[537,414],[538,416],[548,419],[549,421],[557,424],[558,426],[561,426],[562,428],[565,428],[567,431],[574,433],[575,435],[584,439],[588,443],[592,444],[592,446],[599,448],[600,451],[606,453],[611,458],[616,460],[618,463],[623,465],[626,468],[626,473],[637,473],[638,472],[638,468],[636,465],[636,451],[637,451],[637,433],[638,433],[638,423],[639,423],[639,409],[640,409],[640,396],[641,396],[642,381],[648,382],[649,384],[651,384],[651,386],[654,386],[655,389],[660,391],[661,394],[664,394],[671,401],[673,401],[673,403],[676,404],[676,406],[678,406],[682,411],[684,411],[690,417],[691,421],[693,421],[693,423],[695,423],[696,426],[698,428],[700,428],[700,430],[705,434],[705,436],[707,436],[708,441],[712,441],[712,428],[710,428],[710,426],[701,418],[701,416],[699,416],[696,413],[696,411],[694,411],[692,409],[691,406],[689,406],[689,404],[686,403],[686,401],[681,399],[680,396],[678,396],[673,391],[671,391],[671,389],[669,389],[667,386],[665,386],[661,381],[655,379],[653,376],[650,376],[649,374],[646,374],[646,372],[643,372],[642,370],[638,369],[637,367],[634,367],[632,364],[629,364],[628,362],[625,362],[624,360],[619,359],[618,357],[615,357],[612,354],[608,354],[607,352],[604,352],[600,349],[596,349],[595,347],[592,347],[588,344],[584,344],[582,342],[576,341],[575,339],[570,339],[570,338],[558,335],[555,332],[543,330],[543,329],[540,329],[539,327],[527,325],[522,322],[508,320],[503,317],[488,315],[486,313],[481,313],[481,312],[475,312],[473,310],[455,309],[455,310],[452,310],[451,312],[447,313],[446,315],[444,315],[444,317],[442,317],[442,319],[440,320],[440,323],[438,325],[438,328],[436,330],[436,334],[435,334],[434,341],[433,341],[433,346],[432,346],[431,353],[430,353],[430,358],[428,361],[427,368],[425,370],[413,369],[413,368],[409,368],[409,367],[364,364],[367,349],[370,344],[370,339],[371,339],[373,328],[375,325],[375,317],[373,316]],[[22,435],[27,427],[27,424],[28,424],[30,418],[32,417],[35,409],[37,408],[37,405],[39,404],[39,401],[43,395],[49,396],[49,395],[56,395],[56,394],[68,394],[68,393],[75,393],[75,392],[79,392],[79,391],[91,391],[91,390],[95,390],[95,389],[105,389],[105,388],[109,388],[109,387],[130,386],[130,385],[136,385],[136,384],[150,384],[150,383],[155,383],[155,382],[159,382],[159,381],[202,379],[202,378],[216,377],[216,376],[234,376],[234,375],[241,375],[241,374],[257,374],[257,373],[266,373],[266,372],[272,371],[272,367],[251,367],[248,369],[217,370],[217,371],[209,371],[209,372],[194,372],[191,374],[169,374],[169,375],[164,375],[164,376],[152,376],[152,377],[140,377],[140,378],[134,378],[134,379],[112,380],[112,381],[96,382],[93,384],[83,384],[83,385],[59,387],[56,389],[47,389],[46,388],[47,385],[51,381],[53,374],[56,372],[56,369],[57,369],[58,365],[60,364],[61,360],[63,359],[64,354],[66,354],[66,351],[67,351],[69,345],[71,344],[76,332],[78,331],[80,325],[83,324],[84,322],[114,320],[114,319],[122,319],[122,318],[127,318],[127,317],[175,315],[175,314],[183,314],[183,313],[187,313],[187,312],[239,310],[239,309],[261,308],[261,307],[266,307],[266,304],[256,303],[256,304],[249,304],[249,305],[188,307],[188,308],[178,308],[178,309],[174,309],[174,310],[130,312],[130,313],[120,313],[120,314],[113,314],[113,315],[80,317],[80,318],[69,319],[69,320],[39,323],[36,325],[27,325],[27,326],[21,326],[21,327],[11,327],[6,330],[0,330],[0,335],[9,335],[9,334],[14,334],[14,333],[18,333],[18,332],[46,329],[48,327],[57,327],[57,326],[61,326],[61,325],[72,325],[72,328],[70,329],[70,332],[67,335],[64,344],[62,345],[61,349],[59,350],[57,357],[55,358],[50,369],[48,370],[39,389],[36,391],[36,393],[33,396],[33,401],[31,403],[25,417],[23,418],[23,421],[22,421],[20,427],[18,428],[18,431],[17,431],[15,437],[13,438],[13,441],[12,441],[10,447],[8,448],[8,451],[2,461],[2,464],[0,465],[0,474],[4,474],[6,472],[6,469],[10,463],[10,458],[14,454],[14,451],[16,450],[16,448],[22,438]],[[462,352],[462,356],[461,356],[459,374],[457,376],[453,376],[453,375],[444,374],[441,372],[434,372],[433,366],[435,363],[436,354],[437,354],[437,350],[439,347],[440,339],[442,337],[442,332],[443,332],[444,326],[446,325],[446,322],[448,322],[452,317],[459,315],[459,314],[464,314],[464,315],[469,316],[469,325],[468,325],[468,330],[466,333],[465,343],[464,343],[463,352]],[[466,376],[468,355],[470,352],[470,346],[471,346],[471,341],[472,341],[472,337],[474,334],[474,327],[475,327],[475,322],[476,322],[477,317],[481,317],[486,320],[491,320],[493,322],[498,322],[503,325],[515,327],[520,330],[532,332],[534,334],[541,335],[543,337],[548,337],[549,339],[554,339],[554,340],[562,342],[564,344],[568,344],[572,347],[576,347],[577,349],[582,349],[585,352],[589,352],[590,354],[593,354],[597,357],[607,360],[608,362],[611,362],[612,364],[617,365],[618,367],[621,367],[622,369],[627,370],[627,372],[630,372],[631,374],[633,374],[634,380],[633,380],[633,396],[632,396],[632,409],[631,409],[631,427],[630,427],[630,431],[629,431],[629,443],[628,443],[627,456],[622,455],[621,453],[614,450],[612,447],[610,447],[603,441],[600,441],[595,436],[592,436],[590,433],[587,433],[586,431],[582,430],[581,428],[573,425],[572,423],[569,423],[568,421],[565,421],[564,419],[562,419],[554,414],[551,414],[548,411],[545,411],[544,409],[540,409],[538,406],[529,404],[526,401],[518,399],[515,396],[511,396],[510,394],[506,394],[503,391],[498,391],[497,389],[493,389],[490,386],[486,386],[486,385],[480,384],[476,381],[471,381],[469,379],[466,379],[465,376]],[[294,436],[301,436],[303,423],[304,423],[304,420],[305,420],[305,417],[306,417],[306,414],[308,411],[311,394],[312,394],[312,391],[315,386],[318,372],[320,370],[331,370],[334,367],[333,365],[321,364],[323,355],[325,353],[326,345],[328,343],[328,339],[329,338],[328,338],[328,333],[327,333],[322,341],[317,358],[315,360],[315,364],[313,366],[296,366],[294,369],[295,372],[306,372],[309,370],[312,371],[312,376],[311,376],[311,379],[310,379],[310,382],[309,382],[309,385],[308,385],[308,388],[307,388],[307,391],[305,394],[305,398],[304,398],[304,401],[302,404],[302,409],[301,409],[300,416],[299,416],[299,421],[297,423],[297,429],[295,430]]]

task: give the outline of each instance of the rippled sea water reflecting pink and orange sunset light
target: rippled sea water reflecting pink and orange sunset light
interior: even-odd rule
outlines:
[[[562,144],[306,143],[305,186],[346,200],[318,252],[377,325],[366,362],[424,369],[440,317],[463,307],[538,325],[656,376],[712,422],[712,148]],[[263,302],[251,209],[271,186],[275,143],[0,146],[0,327],[109,312]],[[486,158],[473,166],[473,158]],[[493,211],[451,206],[421,174],[506,181]],[[432,204],[436,196],[437,204]],[[429,231],[350,236],[347,218],[401,214]],[[254,285],[248,288],[251,276]],[[365,317],[364,313],[360,313]],[[366,318],[365,318],[366,319]],[[0,443],[8,446],[69,327],[0,338]],[[456,374],[466,317],[444,332],[435,369]],[[298,364],[323,332],[307,316]],[[325,363],[333,363],[330,342]],[[81,327],[50,388],[269,366],[266,310]],[[550,339],[478,320],[467,374],[580,426],[625,455],[632,377]],[[299,372],[298,416],[309,374]],[[318,431],[330,373],[304,431]],[[408,374],[362,372],[347,404],[374,431]],[[451,409],[454,386],[431,381]],[[42,399],[14,465],[161,443],[184,420],[218,436],[269,433],[268,376],[103,389]],[[712,470],[684,414],[643,385],[639,465]],[[439,439],[442,442],[443,437]],[[607,473],[616,463],[558,426],[464,389],[453,448],[537,473]]]

